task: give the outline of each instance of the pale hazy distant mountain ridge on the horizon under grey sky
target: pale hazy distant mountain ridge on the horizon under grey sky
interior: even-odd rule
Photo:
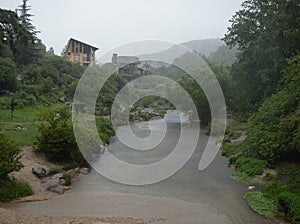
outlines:
[[[216,52],[219,47],[225,46],[224,42],[219,38],[213,38],[213,39],[206,39],[206,40],[193,40],[181,43],[182,46],[196,51],[197,53],[204,55],[205,57],[209,57],[213,52]],[[146,54],[146,55],[139,55],[139,59],[143,61],[148,61],[153,58],[159,57],[162,61],[169,61],[172,62],[174,59],[180,57],[185,52],[188,51],[188,49],[184,49],[180,46],[174,45],[171,48],[160,51],[153,54]],[[164,63],[151,63],[150,64],[154,67],[159,67],[159,65],[162,65]]]

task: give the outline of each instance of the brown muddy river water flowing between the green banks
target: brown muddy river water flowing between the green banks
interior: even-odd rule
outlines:
[[[153,150],[131,150],[114,138],[109,151],[119,159],[135,164],[158,161],[174,148],[180,135],[179,127],[169,124],[163,142]],[[150,133],[147,123],[133,124],[131,128],[139,137]],[[142,187],[127,186],[92,171],[73,184],[72,190],[63,196],[43,202],[17,204],[12,208],[48,215],[166,217],[169,220],[167,223],[272,223],[249,209],[242,197],[247,186],[230,178],[233,170],[227,167],[226,158],[219,154],[206,170],[198,170],[207,139],[201,131],[199,143],[189,162],[162,182]],[[105,160],[105,156],[104,153],[99,163]]]

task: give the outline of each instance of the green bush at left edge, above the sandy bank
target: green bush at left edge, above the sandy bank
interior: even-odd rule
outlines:
[[[0,181],[23,167],[20,159],[20,148],[0,132]]]

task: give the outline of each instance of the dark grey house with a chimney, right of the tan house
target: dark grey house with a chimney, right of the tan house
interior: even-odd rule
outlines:
[[[112,56],[111,62],[117,67],[118,74],[123,76],[127,81],[131,81],[137,76],[149,75],[149,66],[141,65],[139,58],[136,56],[118,56],[115,53]]]

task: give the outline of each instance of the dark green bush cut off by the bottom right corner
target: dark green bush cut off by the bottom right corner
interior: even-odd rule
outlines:
[[[289,221],[300,221],[300,195],[284,191],[278,199],[281,210],[288,217]]]

